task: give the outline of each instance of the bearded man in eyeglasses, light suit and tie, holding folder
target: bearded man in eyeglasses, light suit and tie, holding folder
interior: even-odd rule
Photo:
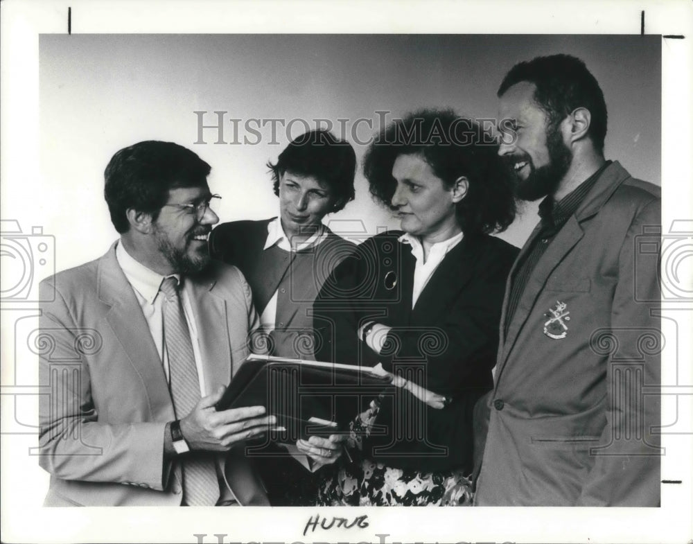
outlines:
[[[117,152],[105,199],[119,240],[42,282],[47,506],[268,504],[243,443],[274,417],[214,408],[258,317],[243,275],[209,256],[210,169],[175,143]]]

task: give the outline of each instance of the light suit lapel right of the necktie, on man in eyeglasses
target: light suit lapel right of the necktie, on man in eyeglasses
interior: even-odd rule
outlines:
[[[198,325],[204,385],[207,394],[211,394],[220,385],[228,385],[231,379],[231,347],[227,330],[226,303],[224,299],[215,295],[215,281],[197,281],[192,278],[188,278],[188,281],[191,286],[190,304],[195,323]]]

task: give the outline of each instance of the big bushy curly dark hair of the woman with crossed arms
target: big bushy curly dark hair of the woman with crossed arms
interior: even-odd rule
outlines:
[[[376,200],[392,207],[397,182],[392,166],[399,155],[419,155],[446,187],[468,179],[456,217],[465,234],[500,232],[515,219],[509,171],[490,132],[452,109],[420,109],[383,129],[366,152],[363,173]]]

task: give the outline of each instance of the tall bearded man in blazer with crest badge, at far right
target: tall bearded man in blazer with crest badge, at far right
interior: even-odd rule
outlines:
[[[475,504],[657,506],[660,189],[604,158],[604,94],[581,60],[520,62],[498,96],[518,196],[545,198],[477,405]]]

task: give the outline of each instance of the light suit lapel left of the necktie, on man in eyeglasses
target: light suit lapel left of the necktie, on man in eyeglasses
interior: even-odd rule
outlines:
[[[98,263],[97,292],[111,306],[106,320],[149,394],[152,418],[173,418],[164,365],[137,297],[116,260],[115,244]]]

